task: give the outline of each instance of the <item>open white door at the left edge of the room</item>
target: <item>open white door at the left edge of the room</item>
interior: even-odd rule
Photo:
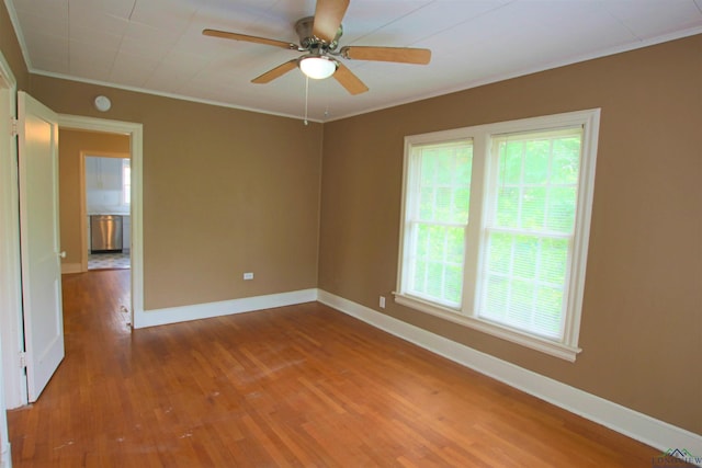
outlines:
[[[58,118],[18,93],[20,242],[27,393],[36,401],[64,358],[58,221]]]

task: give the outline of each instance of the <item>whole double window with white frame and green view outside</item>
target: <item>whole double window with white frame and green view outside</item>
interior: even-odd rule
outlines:
[[[575,361],[599,110],[407,137],[396,301]]]

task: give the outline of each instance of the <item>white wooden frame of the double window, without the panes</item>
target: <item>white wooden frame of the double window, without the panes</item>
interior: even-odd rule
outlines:
[[[508,340],[520,345],[537,350],[552,356],[574,362],[581,351],[578,347],[582,297],[585,292],[585,273],[588,256],[590,218],[595,191],[595,169],[597,145],[599,138],[600,109],[554,114],[533,118],[477,125],[430,134],[405,137],[405,162],[403,176],[403,206],[400,219],[399,261],[397,272],[397,290],[394,293],[397,304],[441,317],[454,323]],[[516,328],[499,324],[477,316],[475,311],[476,294],[482,278],[478,277],[478,265],[484,250],[485,214],[487,213],[489,181],[494,179],[490,164],[492,137],[505,134],[553,130],[558,128],[582,126],[581,158],[578,180],[575,236],[571,251],[571,263],[566,284],[567,299],[563,336],[547,339]],[[412,296],[405,287],[405,271],[409,270],[405,258],[408,255],[408,242],[405,241],[407,226],[410,157],[414,146],[440,144],[452,140],[473,140],[473,168],[471,181],[469,222],[465,236],[465,267],[463,285],[463,304],[461,310],[452,309],[437,303]]]

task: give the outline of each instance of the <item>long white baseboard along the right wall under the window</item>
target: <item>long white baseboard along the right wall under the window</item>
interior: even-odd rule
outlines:
[[[322,289],[318,290],[317,300],[556,407],[650,445],[661,453],[671,448],[684,448],[695,456],[695,460],[692,461],[702,466],[700,459],[697,459],[702,457],[700,434],[544,377]]]

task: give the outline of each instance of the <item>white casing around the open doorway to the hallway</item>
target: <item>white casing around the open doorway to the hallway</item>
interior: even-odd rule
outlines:
[[[110,121],[80,115],[58,114],[58,128],[75,130],[92,130],[129,136],[129,153],[132,168],[132,203],[131,203],[131,256],[132,256],[132,327],[144,313],[144,243],[143,243],[143,207],[141,207],[141,167],[144,126],[134,122]],[[59,141],[60,148],[60,141]]]

